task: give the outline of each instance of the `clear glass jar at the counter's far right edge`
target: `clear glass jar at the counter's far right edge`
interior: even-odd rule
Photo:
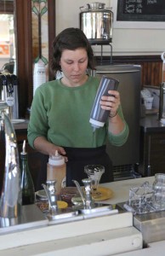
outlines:
[[[156,173],[153,183],[153,206],[156,211],[165,210],[165,173]]]

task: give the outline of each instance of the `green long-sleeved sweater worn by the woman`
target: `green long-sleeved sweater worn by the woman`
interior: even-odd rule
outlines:
[[[128,138],[128,125],[118,135],[108,133],[108,123],[96,129],[89,123],[91,108],[100,79],[89,77],[77,87],[68,87],[60,80],[40,85],[33,98],[28,125],[28,141],[32,148],[37,137],[63,147],[96,148],[105,145],[108,135],[113,145],[121,146]],[[123,119],[122,108],[118,113]],[[124,119],[123,119],[124,120]],[[124,121],[125,122],[125,121]]]

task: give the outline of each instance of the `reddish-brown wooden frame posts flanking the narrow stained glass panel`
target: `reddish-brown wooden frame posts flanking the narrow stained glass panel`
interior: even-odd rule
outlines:
[[[24,118],[27,108],[31,108],[33,96],[31,0],[14,0],[14,19],[16,24],[19,115]],[[54,36],[55,0],[48,0],[48,59]],[[49,79],[52,78],[49,77]]]

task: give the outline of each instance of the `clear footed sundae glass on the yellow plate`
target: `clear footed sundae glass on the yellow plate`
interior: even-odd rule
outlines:
[[[84,166],[84,172],[87,173],[88,178],[92,181],[92,195],[98,197],[101,193],[98,191],[100,178],[105,172],[105,167],[101,165],[88,165]]]

